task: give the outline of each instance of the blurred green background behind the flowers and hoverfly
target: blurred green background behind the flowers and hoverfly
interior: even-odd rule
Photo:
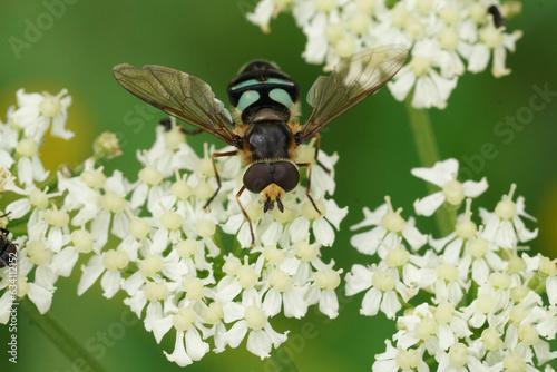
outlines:
[[[14,104],[14,92],[21,87],[26,91],[52,94],[67,88],[74,97],[68,127],[77,137],[69,143],[48,138],[42,155],[51,169],[60,163],[82,161],[90,154],[91,140],[101,131],[111,130],[121,138],[125,154],[107,168],[129,169],[127,176],[135,178],[136,149],[150,146],[152,127],[164,115],[139,120],[141,127],[133,125],[137,123],[133,119],[139,118],[137,107],[143,104],[115,81],[111,68],[117,63],[157,63],[190,72],[206,80],[222,99],[226,98],[225,87],[238,68],[255,58],[276,61],[300,82],[304,92],[321,74],[321,67],[309,66],[301,58],[305,37],[291,16],[281,14],[273,21],[270,35],[263,35],[245,20],[244,14],[254,8],[255,0],[67,1],[63,13],[58,8],[61,14],[51,25],[45,13],[53,0],[0,4],[1,118],[6,119],[3,112]],[[527,212],[539,221],[537,225],[528,225],[540,228],[539,237],[530,246],[550,257],[557,256],[556,95],[548,98],[546,107],[536,111],[520,131],[509,133],[514,138],[508,144],[504,139],[510,137],[497,136],[494,128],[507,116],[528,111],[534,85],[547,85],[550,91],[557,91],[556,16],[556,1],[525,1],[522,14],[508,23],[509,29],[521,29],[525,33],[517,52],[507,59],[512,74],[502,79],[495,79],[489,71],[466,75],[459,80],[448,108],[431,111],[441,156],[459,159],[462,167],[465,159],[472,161],[466,167],[473,179],[488,177],[489,189],[473,205],[494,208],[510,184],[516,183],[517,194],[526,197]],[[39,33],[29,33],[29,25],[38,21],[48,27]],[[23,42],[20,49],[13,48],[16,38]],[[307,105],[303,114],[306,118]],[[205,140],[217,141],[209,135],[189,137],[189,144],[197,149]],[[486,143],[492,144],[497,151],[492,159],[480,158]],[[413,200],[426,195],[426,186],[410,175],[410,169],[419,163],[404,106],[394,101],[387,89],[326,128],[322,133],[322,148],[341,156],[334,198],[350,208],[334,246],[323,252],[348,272],[355,262],[369,262],[349,244],[349,226],[361,221],[361,208],[374,208],[383,203],[384,195],[390,195],[394,207],[403,207],[402,215],[408,217]],[[431,231],[429,221],[420,218],[418,224],[423,231]],[[121,296],[106,301],[98,283],[84,296],[76,297],[78,274],[75,270],[69,280],[59,280],[50,314],[78,342],[99,347],[99,362],[107,371],[180,370],[163,355],[163,349],[169,352],[174,349],[174,335],[165,337],[163,345],[156,344],[140,322],[130,325],[123,321],[129,314]],[[276,319],[277,331],[291,330],[293,344],[289,347],[294,351],[300,371],[370,370],[373,355],[384,351],[383,340],[392,334],[394,325],[383,316],[360,316],[361,298],[362,295],[343,300],[340,316],[333,321],[314,310],[301,321]],[[7,330],[0,330],[2,371],[80,371],[79,363],[66,359],[22,313],[18,325],[16,368],[7,363],[3,352]],[[113,334],[105,343],[104,333]],[[238,350],[208,353],[187,370],[276,369],[247,353],[242,344]]]

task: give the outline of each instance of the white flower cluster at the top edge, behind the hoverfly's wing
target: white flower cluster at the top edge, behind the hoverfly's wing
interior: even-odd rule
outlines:
[[[507,32],[505,18],[520,12],[500,0],[261,0],[247,19],[268,31],[271,18],[290,11],[307,37],[303,57],[334,66],[360,50],[390,43],[410,48],[409,63],[389,82],[398,100],[416,108],[444,108],[466,70],[508,75],[507,50],[522,32]]]

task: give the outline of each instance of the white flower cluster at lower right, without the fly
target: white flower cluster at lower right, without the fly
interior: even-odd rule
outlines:
[[[461,184],[457,172],[455,159],[412,169],[442,188],[427,208],[427,198],[417,202],[418,214],[430,215],[443,202],[450,208],[466,205],[448,236],[421,234],[388,197],[374,212],[364,209],[365,219],[353,226],[373,226],[352,244],[380,261],[354,265],[346,293],[365,291],[363,315],[381,311],[397,321],[398,332],[375,355],[373,371],[554,371],[547,363],[557,352],[547,340],[557,333],[556,261],[520,254],[520,244],[537,231],[522,222],[534,218],[525,213],[524,197],[514,199],[515,185],[492,212],[479,209],[478,226],[471,197],[487,183]]]

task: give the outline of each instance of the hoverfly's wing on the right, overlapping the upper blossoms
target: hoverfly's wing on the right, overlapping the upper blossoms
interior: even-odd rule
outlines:
[[[299,144],[313,137],[331,120],[348,111],[389,81],[404,65],[408,48],[382,46],[355,53],[320,76],[307,92],[313,112],[296,134]]]

